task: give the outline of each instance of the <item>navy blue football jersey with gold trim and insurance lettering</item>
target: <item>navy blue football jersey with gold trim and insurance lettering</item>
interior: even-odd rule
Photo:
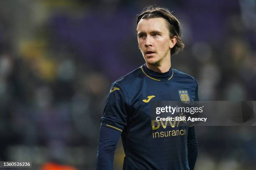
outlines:
[[[190,75],[172,68],[165,73],[154,72],[145,64],[112,84],[101,126],[121,133],[123,169],[189,170],[189,127],[177,122],[153,127],[151,103],[198,100],[197,87],[197,81]]]

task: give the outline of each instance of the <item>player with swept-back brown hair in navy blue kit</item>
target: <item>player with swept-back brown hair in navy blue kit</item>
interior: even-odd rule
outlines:
[[[179,92],[186,92],[187,100],[198,100],[195,78],[171,67],[171,54],[184,47],[179,21],[166,8],[151,6],[138,15],[136,32],[146,63],[110,88],[101,118],[97,170],[113,170],[120,135],[125,151],[123,170],[193,170],[195,127],[174,122],[156,128],[150,115],[153,101],[184,99]]]

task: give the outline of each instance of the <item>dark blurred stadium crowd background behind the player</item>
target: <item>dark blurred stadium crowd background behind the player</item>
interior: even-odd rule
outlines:
[[[106,96],[143,65],[136,14],[154,3],[0,1],[0,160],[95,169]],[[200,100],[256,100],[254,0],[156,4],[182,23],[186,47],[172,67],[197,78]],[[197,138],[197,170],[256,168],[254,127],[197,127]],[[119,145],[116,169],[122,160]]]

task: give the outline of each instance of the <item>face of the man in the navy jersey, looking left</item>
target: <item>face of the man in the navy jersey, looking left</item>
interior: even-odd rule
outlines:
[[[170,49],[174,47],[164,18],[141,19],[137,26],[138,45],[149,65],[170,62]]]

